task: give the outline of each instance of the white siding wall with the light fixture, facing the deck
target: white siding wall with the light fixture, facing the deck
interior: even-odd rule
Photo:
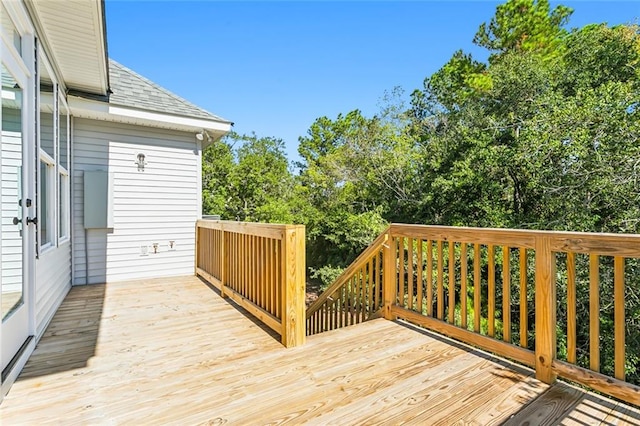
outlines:
[[[73,134],[74,283],[192,274],[200,198],[194,135],[88,119],[75,119]],[[84,229],[85,170],[113,173],[112,229]]]

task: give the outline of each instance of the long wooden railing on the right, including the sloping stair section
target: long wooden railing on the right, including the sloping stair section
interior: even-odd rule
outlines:
[[[640,235],[392,224],[326,293],[308,308],[308,334],[382,308],[528,365],[547,383],[561,376],[640,405],[639,383],[625,378],[640,370],[625,345],[640,339]]]

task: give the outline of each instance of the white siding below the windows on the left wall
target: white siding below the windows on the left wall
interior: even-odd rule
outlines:
[[[39,338],[71,288],[71,244],[51,247],[36,260],[36,336]]]

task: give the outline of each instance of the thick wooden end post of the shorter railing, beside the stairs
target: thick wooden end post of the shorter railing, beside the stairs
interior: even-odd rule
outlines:
[[[282,238],[282,344],[303,345],[305,316],[304,226],[287,226]]]

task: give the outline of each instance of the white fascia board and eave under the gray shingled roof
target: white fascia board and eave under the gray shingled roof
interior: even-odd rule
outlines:
[[[68,103],[71,115],[74,117],[168,128],[185,132],[199,132],[204,129],[214,133],[217,137],[231,131],[231,123],[223,121],[127,108],[76,96],[69,96]]]

